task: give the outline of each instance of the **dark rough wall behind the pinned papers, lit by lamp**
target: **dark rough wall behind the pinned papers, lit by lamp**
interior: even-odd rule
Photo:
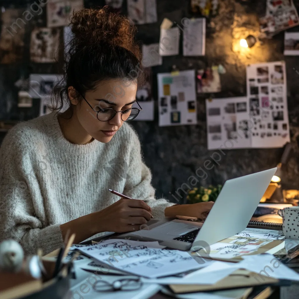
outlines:
[[[0,1],[6,8],[30,7],[34,1]],[[100,7],[104,1],[84,1],[85,7]],[[259,33],[258,17],[266,11],[266,0],[219,0],[220,9],[217,16],[207,18],[206,56],[183,57],[182,42],[178,56],[163,57],[163,65],[152,68],[153,94],[155,98],[155,120],[153,122],[131,122],[140,137],[144,161],[152,170],[152,185],[156,188],[156,196],[164,196],[175,201],[170,192],[174,193],[187,179],[195,175],[204,161],[210,159],[215,151],[207,150],[205,98],[233,97],[246,95],[246,72],[248,64],[267,61],[286,61],[287,92],[289,122],[292,142],[292,155],[283,169],[282,184],[285,189],[298,189],[299,183],[299,71],[298,57],[283,56],[284,32],[272,39],[261,40],[249,51],[240,52],[235,48],[239,39],[248,34],[257,36]],[[37,1],[37,3],[39,3]],[[299,10],[299,0],[294,0]],[[13,5],[11,5],[13,4]],[[160,24],[166,17],[172,22],[181,23],[183,17],[200,17],[191,13],[189,0],[157,0],[158,22],[138,25],[137,39],[145,44],[159,42]],[[123,2],[123,13],[126,14],[126,1]],[[30,73],[57,74],[61,73],[62,63],[30,62],[29,40],[34,26],[46,27],[46,7],[43,13],[37,14],[25,26],[25,48],[22,62],[0,65],[0,120],[26,120],[31,118],[28,108],[17,107],[18,89],[14,83],[23,75]],[[288,31],[299,31],[299,26]],[[182,34],[181,34],[182,36]],[[62,41],[61,35],[61,41]],[[182,37],[181,37],[182,40]],[[189,126],[158,126],[157,80],[156,74],[169,72],[173,69],[202,69],[212,64],[221,63],[226,73],[221,76],[222,91],[216,94],[201,94],[197,97],[198,124]],[[11,106],[10,109],[7,107]],[[7,111],[9,110],[9,111]],[[5,133],[0,133],[0,142]],[[28,141],[29,142],[29,141]],[[280,161],[283,149],[231,149],[221,155],[220,165],[215,164],[208,170],[208,178],[199,185],[223,184],[227,179],[275,167]],[[196,187],[198,187],[196,186]],[[184,195],[184,194],[183,194]]]

